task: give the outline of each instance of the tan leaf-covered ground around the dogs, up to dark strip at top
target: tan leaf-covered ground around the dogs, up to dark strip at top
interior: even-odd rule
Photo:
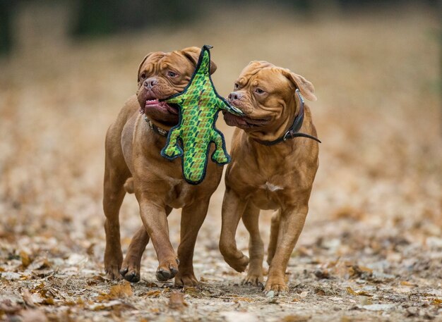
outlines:
[[[59,31],[65,8],[26,4],[19,12],[17,54],[0,61],[0,319],[442,321],[436,13],[226,9],[186,27],[71,42]],[[220,256],[223,184],[196,245],[198,287],[157,282],[151,245],[140,283],[103,273],[107,126],[135,92],[146,53],[202,44],[214,46],[220,94],[254,59],[295,70],[316,87],[310,106],[323,140],[320,168],[285,295],[241,285],[244,273]],[[232,128],[218,125],[229,141]],[[264,240],[270,216],[261,215]],[[179,211],[169,223],[177,247]],[[124,251],[139,225],[128,196]],[[241,224],[237,241],[246,251]]]

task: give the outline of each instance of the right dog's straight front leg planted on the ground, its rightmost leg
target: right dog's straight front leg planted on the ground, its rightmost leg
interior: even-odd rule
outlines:
[[[281,211],[275,255],[270,262],[265,291],[287,292],[285,270],[307,216],[308,206]]]

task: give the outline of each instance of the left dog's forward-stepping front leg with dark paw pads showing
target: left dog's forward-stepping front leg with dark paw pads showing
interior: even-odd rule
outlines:
[[[138,197],[138,196],[137,196]],[[146,194],[138,197],[141,220],[157,252],[157,280],[164,282],[178,273],[178,259],[169,240],[166,207],[151,202]]]

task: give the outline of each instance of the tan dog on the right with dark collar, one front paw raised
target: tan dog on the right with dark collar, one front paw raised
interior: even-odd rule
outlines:
[[[294,120],[299,122],[304,106],[296,89],[306,99],[316,100],[313,85],[302,76],[264,61],[253,61],[241,72],[234,92],[229,94],[229,103],[246,117],[225,113],[226,123],[238,128],[225,176],[220,250],[225,261],[239,272],[250,264],[244,283],[262,285],[264,248],[258,217],[260,209],[275,209],[266,291],[288,290],[285,270],[304,226],[318,168],[318,144],[309,138],[286,135]],[[299,132],[316,136],[308,107]],[[287,140],[282,140],[284,137]],[[235,242],[241,217],[250,233],[250,261]]]

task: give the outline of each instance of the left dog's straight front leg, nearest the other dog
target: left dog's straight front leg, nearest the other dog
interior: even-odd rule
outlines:
[[[210,197],[197,200],[185,206],[181,212],[181,242],[178,247],[179,272],[175,276],[175,284],[195,286],[198,280],[193,273],[193,250],[195,249],[198,231],[203,225]]]

